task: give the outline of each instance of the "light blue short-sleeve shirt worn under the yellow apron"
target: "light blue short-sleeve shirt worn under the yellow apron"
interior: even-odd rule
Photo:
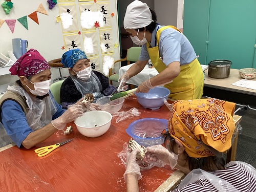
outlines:
[[[157,25],[152,32],[152,39],[150,42],[151,47],[156,47],[156,32],[158,29],[164,26]],[[158,46],[160,57],[163,58],[163,62],[166,66],[174,61],[179,61],[180,65],[187,65],[196,58],[194,48],[190,44],[185,35],[173,28],[167,28],[161,32]],[[146,44],[141,48],[139,60],[148,60]]]

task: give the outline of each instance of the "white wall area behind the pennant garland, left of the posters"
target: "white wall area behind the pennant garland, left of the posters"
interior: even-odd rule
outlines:
[[[45,7],[49,15],[37,13],[39,25],[28,17],[27,30],[17,20],[14,33],[11,32],[6,23],[0,28],[0,52],[8,56],[7,51],[12,51],[12,38],[22,38],[28,40],[28,49],[33,48],[39,51],[46,60],[60,58],[65,52],[63,46],[63,36],[61,23],[57,23],[55,17],[59,15],[58,6],[50,10],[47,1],[13,1],[13,9],[6,15],[0,11],[0,19],[18,19],[34,12],[40,3]]]

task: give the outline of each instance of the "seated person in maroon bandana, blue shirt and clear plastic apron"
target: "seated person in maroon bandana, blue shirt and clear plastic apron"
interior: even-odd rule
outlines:
[[[0,129],[2,146],[11,139],[18,147],[29,149],[63,130],[66,123],[87,110],[81,103],[64,110],[54,100],[49,92],[50,66],[37,50],[30,49],[9,71],[19,80],[0,99],[0,120],[6,131]]]

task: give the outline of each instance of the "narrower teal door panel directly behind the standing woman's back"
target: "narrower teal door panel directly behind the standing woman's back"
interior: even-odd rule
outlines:
[[[183,33],[202,65],[206,63],[210,0],[184,0]]]

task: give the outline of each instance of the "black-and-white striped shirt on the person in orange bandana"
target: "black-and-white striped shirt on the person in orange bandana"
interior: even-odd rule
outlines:
[[[232,161],[226,165],[224,170],[216,170],[215,172],[210,172],[214,176],[226,181],[231,184],[236,190],[227,189],[226,185],[220,185],[226,190],[223,191],[256,191],[256,170],[251,165],[243,162]],[[221,183],[221,182],[220,182]],[[191,182],[190,184],[184,186],[182,189],[175,189],[175,192],[208,192],[208,191],[219,191],[214,184],[212,184],[205,177],[197,180],[196,182]]]

